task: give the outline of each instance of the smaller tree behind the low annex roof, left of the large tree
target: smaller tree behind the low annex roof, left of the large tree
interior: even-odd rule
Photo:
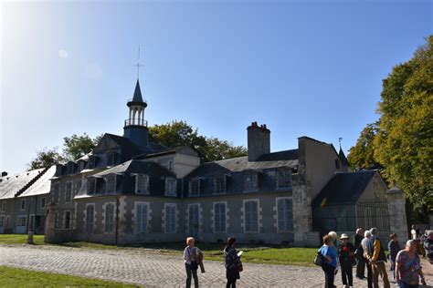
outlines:
[[[352,170],[383,169],[383,166],[375,159],[375,135],[377,134],[377,123],[368,124],[354,147],[349,150],[347,159]]]

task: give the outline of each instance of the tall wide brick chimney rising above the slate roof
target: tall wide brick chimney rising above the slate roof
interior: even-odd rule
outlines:
[[[248,130],[248,161],[255,161],[263,154],[270,153],[270,130],[266,124],[252,122]]]

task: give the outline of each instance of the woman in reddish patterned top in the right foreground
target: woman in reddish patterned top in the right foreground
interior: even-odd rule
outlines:
[[[400,288],[415,288],[419,285],[419,278],[423,285],[427,285],[417,255],[417,242],[409,240],[406,248],[396,255],[396,282]]]

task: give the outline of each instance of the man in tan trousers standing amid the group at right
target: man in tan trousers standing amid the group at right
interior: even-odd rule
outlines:
[[[367,242],[369,262],[373,268],[373,285],[375,288],[379,288],[379,275],[382,275],[384,281],[384,287],[390,288],[388,281],[388,274],[386,273],[385,262],[386,256],[382,242],[379,239],[376,228],[370,230],[372,237]]]

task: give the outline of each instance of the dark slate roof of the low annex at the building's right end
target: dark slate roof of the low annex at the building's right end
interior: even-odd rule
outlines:
[[[354,204],[375,176],[376,170],[337,172],[312,201],[317,207],[326,199],[327,205]]]

